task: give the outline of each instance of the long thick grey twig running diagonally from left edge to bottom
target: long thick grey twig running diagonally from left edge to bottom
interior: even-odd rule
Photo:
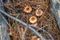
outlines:
[[[32,28],[30,25],[26,24],[25,22],[23,22],[23,21],[15,18],[15,17],[13,17],[13,16],[10,16],[9,14],[7,14],[6,12],[4,12],[4,11],[1,10],[1,9],[0,9],[0,12],[3,13],[4,15],[6,15],[7,17],[9,17],[9,18],[11,18],[11,19],[13,19],[13,20],[15,20],[15,21],[23,24],[24,27],[28,26],[28,28],[29,28],[30,30],[32,30],[38,37],[40,37],[42,40],[45,40],[45,38],[44,38],[41,34],[39,34],[34,28]]]

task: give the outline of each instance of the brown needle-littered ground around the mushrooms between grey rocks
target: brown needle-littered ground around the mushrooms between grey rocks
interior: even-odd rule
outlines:
[[[41,16],[36,16],[37,17],[37,26],[40,28],[44,28],[50,34],[54,37],[55,40],[60,40],[60,32],[59,28],[57,25],[57,21],[52,15],[50,9],[50,4],[49,0],[8,0],[6,3],[3,4],[6,12],[8,12],[11,16],[16,17],[18,14],[19,16],[17,17],[18,19],[21,19],[27,24],[32,24],[29,22],[29,18],[31,16],[36,16],[35,12],[39,8],[40,10],[43,11],[43,14]],[[32,10],[29,11],[25,10],[24,8],[26,6],[29,6],[32,8]],[[27,13],[27,11],[29,11]],[[36,36],[31,30],[28,28],[24,28],[24,26],[10,18],[8,18],[8,22],[10,24],[8,33],[11,37],[11,40],[22,40],[22,34],[24,30],[26,30],[25,33],[25,39],[26,40],[32,40],[32,36]],[[13,23],[17,23],[13,25]],[[43,33],[42,31],[38,30],[39,33],[41,33],[47,40],[49,39],[47,34]]]

